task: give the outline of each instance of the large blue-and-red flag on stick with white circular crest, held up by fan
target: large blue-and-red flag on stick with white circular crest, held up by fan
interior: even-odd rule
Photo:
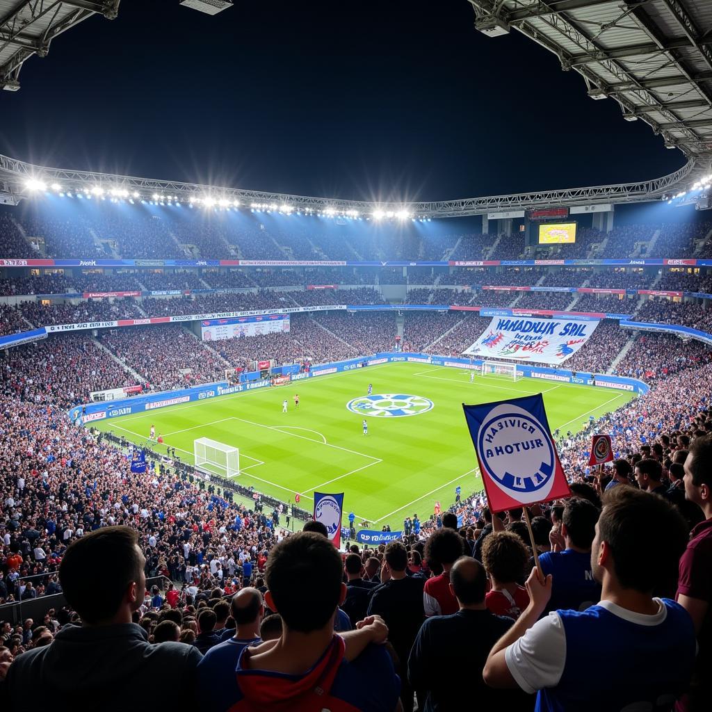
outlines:
[[[491,511],[570,496],[541,394],[463,408]]]

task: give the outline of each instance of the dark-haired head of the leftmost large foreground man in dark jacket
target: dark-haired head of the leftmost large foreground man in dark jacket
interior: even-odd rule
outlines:
[[[110,562],[87,585],[88,572],[97,562]],[[125,619],[143,603],[146,592],[145,558],[138,534],[130,527],[102,527],[75,539],[59,567],[64,596],[81,619],[90,625]]]

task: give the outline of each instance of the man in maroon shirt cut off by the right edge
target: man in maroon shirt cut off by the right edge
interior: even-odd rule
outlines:
[[[685,496],[704,520],[691,530],[680,558],[676,600],[692,617],[699,648],[689,693],[678,710],[697,712],[708,709],[712,698],[712,436],[693,440],[684,467]]]

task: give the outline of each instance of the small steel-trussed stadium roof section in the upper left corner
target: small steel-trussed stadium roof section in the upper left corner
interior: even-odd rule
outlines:
[[[53,38],[92,15],[114,19],[120,1],[0,0],[0,88],[17,91],[31,56],[47,56]]]

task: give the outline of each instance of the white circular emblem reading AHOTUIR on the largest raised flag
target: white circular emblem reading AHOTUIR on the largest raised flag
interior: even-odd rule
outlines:
[[[528,504],[543,500],[554,483],[556,455],[545,427],[511,403],[494,407],[477,433],[483,470],[504,493]]]

